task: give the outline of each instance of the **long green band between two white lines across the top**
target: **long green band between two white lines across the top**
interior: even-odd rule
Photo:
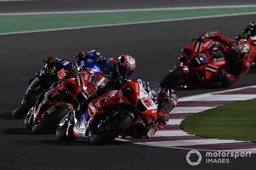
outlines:
[[[256,12],[256,7],[0,16],[0,33]]]

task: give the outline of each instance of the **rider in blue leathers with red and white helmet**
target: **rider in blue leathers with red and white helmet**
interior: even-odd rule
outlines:
[[[118,79],[122,75],[129,76],[132,80],[132,72],[135,69],[136,61],[129,55],[121,55],[118,60],[109,57],[103,57],[95,50],[89,52],[79,51],[77,58],[87,60],[93,58],[95,62],[100,64],[102,72],[108,77],[109,80]]]

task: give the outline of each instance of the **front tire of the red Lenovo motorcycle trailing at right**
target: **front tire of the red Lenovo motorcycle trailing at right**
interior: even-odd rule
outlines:
[[[186,74],[183,72],[182,68],[179,67],[175,70],[173,70],[172,72],[170,72],[169,74],[167,74],[164,79],[161,81],[160,86],[161,88],[165,88],[165,87],[173,87],[174,85],[176,85],[176,82],[183,79],[186,76]]]

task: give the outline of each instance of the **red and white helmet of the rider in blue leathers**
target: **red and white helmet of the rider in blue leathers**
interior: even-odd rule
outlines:
[[[135,69],[136,61],[133,57],[126,54],[121,55],[116,64],[116,72],[119,77],[122,75],[130,76]]]

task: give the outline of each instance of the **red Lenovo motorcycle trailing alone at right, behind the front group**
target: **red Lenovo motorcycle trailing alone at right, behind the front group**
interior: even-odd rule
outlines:
[[[215,40],[202,41],[200,38],[193,44],[182,49],[182,56],[179,62],[164,77],[160,86],[180,87],[201,86],[218,82],[219,70],[228,69],[227,60],[222,51],[229,47],[220,44]]]

